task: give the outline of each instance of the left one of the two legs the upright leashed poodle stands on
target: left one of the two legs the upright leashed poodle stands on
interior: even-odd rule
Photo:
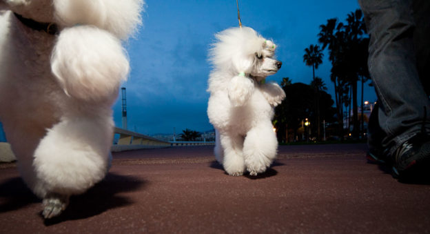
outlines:
[[[233,176],[243,175],[245,161],[243,159],[243,137],[240,135],[221,134],[221,145],[224,149],[224,170]]]

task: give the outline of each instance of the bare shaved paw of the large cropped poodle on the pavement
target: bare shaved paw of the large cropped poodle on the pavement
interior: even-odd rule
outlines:
[[[69,204],[68,195],[52,193],[43,199],[42,215],[45,219],[50,219],[60,215]]]

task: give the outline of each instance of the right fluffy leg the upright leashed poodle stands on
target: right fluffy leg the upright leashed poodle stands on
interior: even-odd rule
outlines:
[[[276,157],[278,141],[272,124],[260,124],[247,133],[243,156],[249,175],[263,173]]]

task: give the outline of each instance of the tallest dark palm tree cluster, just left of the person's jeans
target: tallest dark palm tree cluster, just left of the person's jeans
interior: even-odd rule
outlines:
[[[358,106],[357,83],[361,78],[362,85],[367,81],[367,48],[365,48],[365,24],[361,10],[347,15],[347,24],[338,23],[336,19],[328,19],[327,24],[320,26],[318,42],[323,48],[328,46],[331,61],[331,81],[334,82],[336,110],[339,122],[343,121],[342,104],[345,101],[346,90],[351,90],[353,110],[353,136],[358,137]],[[349,89],[350,88],[350,89]],[[342,117],[343,118],[343,117]]]

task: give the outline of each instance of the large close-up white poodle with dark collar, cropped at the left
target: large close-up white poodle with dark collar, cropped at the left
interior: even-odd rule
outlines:
[[[107,173],[121,40],[143,0],[0,0],[0,121],[19,172],[57,216]]]

